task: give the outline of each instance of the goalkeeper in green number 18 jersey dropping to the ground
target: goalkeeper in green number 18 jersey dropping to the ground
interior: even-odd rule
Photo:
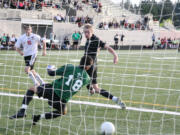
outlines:
[[[21,109],[17,112],[17,114],[11,116],[10,119],[23,118],[26,116],[26,109],[31,102],[34,93],[36,93],[39,98],[43,97],[48,99],[48,104],[56,109],[56,111],[49,113],[33,115],[34,125],[41,118],[52,119],[65,115],[66,103],[68,103],[71,97],[76,94],[84,85],[90,83],[90,78],[86,71],[92,66],[92,64],[92,58],[89,56],[84,56],[81,58],[79,66],[67,64],[57,70],[52,66],[48,66],[47,71],[50,76],[59,75],[62,77],[54,80],[51,84],[34,86],[27,90]]]

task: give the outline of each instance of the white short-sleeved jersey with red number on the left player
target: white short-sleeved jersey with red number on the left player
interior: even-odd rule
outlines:
[[[38,44],[40,44],[40,36],[31,33],[30,36],[23,34],[17,40],[15,47],[20,48],[21,45],[23,46],[23,53],[24,56],[30,56],[37,54],[38,52]]]

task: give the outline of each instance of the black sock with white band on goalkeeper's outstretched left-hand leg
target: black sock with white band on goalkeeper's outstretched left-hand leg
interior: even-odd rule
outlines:
[[[34,95],[34,91],[27,90],[26,95],[24,96],[23,102],[22,102],[22,107],[23,109],[27,109],[27,106],[31,102],[32,98]]]

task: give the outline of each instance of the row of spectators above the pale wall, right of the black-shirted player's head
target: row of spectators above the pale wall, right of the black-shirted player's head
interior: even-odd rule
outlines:
[[[137,20],[136,22],[128,22],[127,19],[123,19],[120,21],[117,21],[116,19],[113,19],[110,22],[101,22],[98,25],[99,29],[119,29],[119,28],[125,28],[128,30],[150,30],[148,25],[148,18],[144,18],[142,21]]]

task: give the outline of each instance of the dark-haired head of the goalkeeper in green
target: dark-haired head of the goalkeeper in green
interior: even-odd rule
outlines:
[[[93,64],[93,59],[90,56],[83,56],[80,60],[80,67],[84,68],[85,70],[89,70]]]

